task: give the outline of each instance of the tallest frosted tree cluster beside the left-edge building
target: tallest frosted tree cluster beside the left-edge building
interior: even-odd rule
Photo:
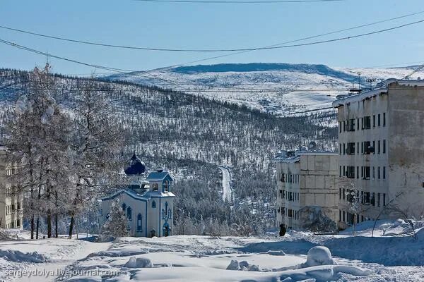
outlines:
[[[40,216],[46,216],[47,235],[52,236],[52,214],[62,205],[59,187],[69,183],[70,118],[54,99],[54,80],[49,65],[35,68],[25,92],[18,97],[8,123],[6,145],[10,160],[18,165],[13,181],[25,195],[30,214],[31,238],[38,238]],[[64,198],[61,198],[64,200]],[[36,227],[35,227],[36,225]]]

